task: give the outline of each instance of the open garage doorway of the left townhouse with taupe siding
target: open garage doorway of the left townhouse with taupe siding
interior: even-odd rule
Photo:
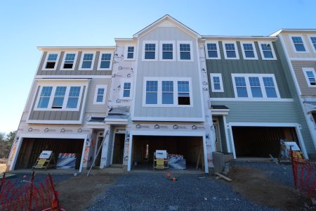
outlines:
[[[32,139],[25,138],[18,154],[15,170],[31,169],[41,151],[53,151],[57,163],[59,153],[75,153],[75,169],[79,169],[84,139]]]

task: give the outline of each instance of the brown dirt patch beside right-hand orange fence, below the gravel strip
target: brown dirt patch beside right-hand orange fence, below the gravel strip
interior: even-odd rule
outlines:
[[[263,170],[254,167],[232,167],[228,177],[233,190],[258,205],[281,210],[312,210],[311,200],[294,188],[271,180]]]

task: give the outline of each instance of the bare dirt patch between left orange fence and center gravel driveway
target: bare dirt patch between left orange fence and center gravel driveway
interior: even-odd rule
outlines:
[[[59,191],[60,207],[65,210],[84,210],[95,202],[98,195],[114,183],[117,174],[80,174],[77,177],[60,181],[56,185]]]

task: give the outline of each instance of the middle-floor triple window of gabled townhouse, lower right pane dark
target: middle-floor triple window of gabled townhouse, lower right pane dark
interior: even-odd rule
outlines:
[[[145,77],[144,107],[192,107],[189,77]]]

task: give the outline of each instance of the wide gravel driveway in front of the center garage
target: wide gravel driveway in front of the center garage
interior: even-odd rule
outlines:
[[[124,174],[87,210],[272,210],[206,174],[177,176],[169,181],[159,173]]]

